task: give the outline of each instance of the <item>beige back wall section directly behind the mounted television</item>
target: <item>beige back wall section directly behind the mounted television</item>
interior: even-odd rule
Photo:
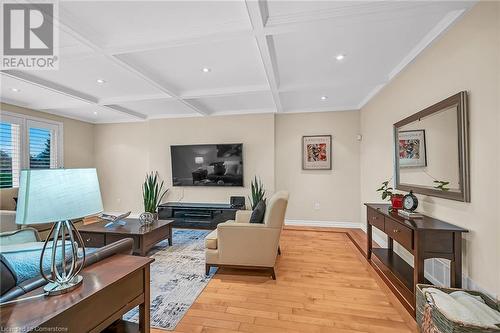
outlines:
[[[245,187],[172,187],[170,145],[243,143]],[[141,185],[158,171],[170,188],[168,201],[227,202],[250,193],[257,175],[274,192],[274,115],[157,119],[95,127],[96,166],[104,207],[141,212]]]

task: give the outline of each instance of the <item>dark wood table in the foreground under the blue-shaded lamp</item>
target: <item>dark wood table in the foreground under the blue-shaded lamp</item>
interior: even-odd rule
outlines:
[[[1,331],[101,332],[139,306],[134,331],[150,331],[149,266],[151,258],[117,254],[81,272],[81,287],[59,296],[40,297],[0,308]],[[43,287],[24,297],[43,294]],[[120,326],[120,325],[118,325]],[[121,325],[124,326],[124,325]]]

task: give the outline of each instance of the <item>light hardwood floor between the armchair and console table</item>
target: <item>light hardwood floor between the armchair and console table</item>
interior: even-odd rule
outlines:
[[[276,281],[219,270],[174,332],[417,332],[346,233],[288,228],[281,250]]]

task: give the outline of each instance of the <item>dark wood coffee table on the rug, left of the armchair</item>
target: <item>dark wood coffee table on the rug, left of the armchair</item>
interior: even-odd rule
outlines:
[[[82,235],[85,247],[102,247],[122,238],[134,239],[134,254],[145,256],[146,253],[159,241],[168,239],[172,245],[173,220],[158,220],[148,227],[141,226],[139,219],[124,219],[125,225],[105,227],[107,221],[98,220],[86,224],[78,231]]]

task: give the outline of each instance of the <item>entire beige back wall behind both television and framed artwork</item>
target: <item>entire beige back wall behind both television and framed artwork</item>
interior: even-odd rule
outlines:
[[[359,112],[156,119],[95,126],[95,160],[107,211],[142,211],[141,184],[157,170],[166,201],[229,202],[254,175],[271,195],[291,193],[287,219],[359,226]],[[333,170],[301,169],[302,135],[333,135]],[[170,145],[243,143],[245,187],[172,187]],[[313,209],[318,202],[320,209]],[[344,224],[344,226],[349,226]]]

